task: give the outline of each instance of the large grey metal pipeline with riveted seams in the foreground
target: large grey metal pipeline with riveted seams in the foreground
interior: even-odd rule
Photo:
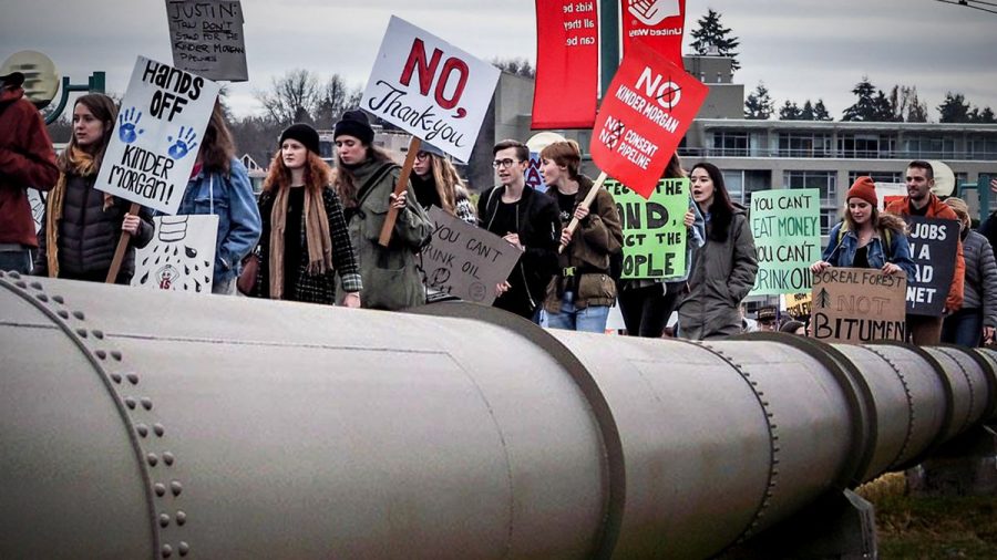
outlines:
[[[997,412],[989,351],[421,312],[0,277],[0,558],[703,558]]]

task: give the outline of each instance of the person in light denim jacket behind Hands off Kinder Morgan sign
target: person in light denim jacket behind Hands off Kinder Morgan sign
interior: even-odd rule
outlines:
[[[261,222],[249,173],[235,157],[235,143],[217,101],[176,214],[218,216],[212,292],[234,295],[243,258],[259,241]]]

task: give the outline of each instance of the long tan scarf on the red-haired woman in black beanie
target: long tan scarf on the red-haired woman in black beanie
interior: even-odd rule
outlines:
[[[332,269],[332,239],[329,235],[329,217],[321,191],[305,189],[305,240],[308,246],[309,274],[325,274]],[[287,200],[290,187],[277,190],[270,210],[270,299],[284,299],[284,230],[287,227]]]

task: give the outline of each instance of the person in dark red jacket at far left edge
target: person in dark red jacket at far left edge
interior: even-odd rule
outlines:
[[[45,122],[24,98],[24,74],[11,72],[0,83],[0,270],[27,274],[38,248],[28,189],[51,189],[59,167]]]

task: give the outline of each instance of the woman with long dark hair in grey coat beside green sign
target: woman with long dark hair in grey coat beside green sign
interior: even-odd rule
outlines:
[[[706,218],[707,241],[692,262],[689,293],[679,307],[679,335],[721,339],[741,332],[738,305],[758,272],[754,238],[743,208],[730,201],[720,169],[692,166],[692,200]]]

